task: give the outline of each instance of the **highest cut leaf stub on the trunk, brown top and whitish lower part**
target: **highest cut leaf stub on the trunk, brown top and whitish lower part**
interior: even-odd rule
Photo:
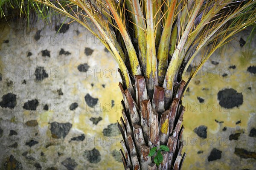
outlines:
[[[145,79],[143,76],[135,76],[135,92],[136,92],[136,103],[141,108],[141,102],[148,100],[148,93],[146,88]]]

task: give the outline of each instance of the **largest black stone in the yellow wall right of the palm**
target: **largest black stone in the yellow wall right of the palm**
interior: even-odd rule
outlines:
[[[226,88],[218,92],[218,100],[221,107],[230,109],[243,104],[243,95],[233,88]]]

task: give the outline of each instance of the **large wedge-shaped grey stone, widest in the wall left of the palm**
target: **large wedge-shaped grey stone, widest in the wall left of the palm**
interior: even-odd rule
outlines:
[[[65,138],[69,133],[71,127],[72,127],[71,123],[52,122],[51,129],[50,129],[52,133],[52,137],[57,139],[60,139],[61,137]]]

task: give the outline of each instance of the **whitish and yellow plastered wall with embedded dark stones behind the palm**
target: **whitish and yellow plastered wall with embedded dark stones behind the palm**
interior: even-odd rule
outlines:
[[[85,28],[61,21],[0,25],[0,169],[122,169],[118,66]],[[189,85],[183,169],[256,167],[255,43],[241,47],[249,33]]]

